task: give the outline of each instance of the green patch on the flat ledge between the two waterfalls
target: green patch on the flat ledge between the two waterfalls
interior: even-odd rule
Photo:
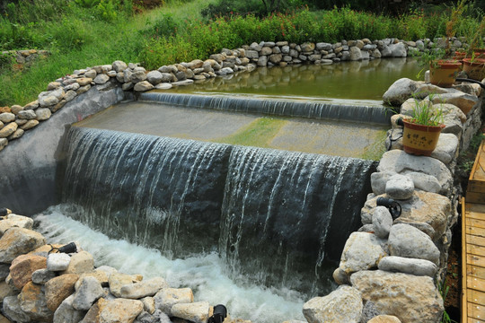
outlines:
[[[257,118],[234,135],[217,139],[216,142],[268,148],[279,129],[286,124],[287,120],[282,118]]]

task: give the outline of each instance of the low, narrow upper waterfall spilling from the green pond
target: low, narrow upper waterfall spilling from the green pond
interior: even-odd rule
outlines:
[[[388,125],[391,113],[384,107],[344,105],[295,100],[234,98],[234,96],[145,92],[138,100],[181,107],[229,110],[273,116],[356,121]]]

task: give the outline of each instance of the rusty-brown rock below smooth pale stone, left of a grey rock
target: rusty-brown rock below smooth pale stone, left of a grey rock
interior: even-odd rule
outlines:
[[[75,292],[75,282],[79,275],[66,274],[52,278],[45,284],[48,310],[56,311],[59,305]]]

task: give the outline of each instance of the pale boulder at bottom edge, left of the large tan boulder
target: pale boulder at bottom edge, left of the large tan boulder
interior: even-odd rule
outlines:
[[[327,296],[305,302],[303,313],[308,323],[359,323],[363,307],[360,292],[342,285]]]

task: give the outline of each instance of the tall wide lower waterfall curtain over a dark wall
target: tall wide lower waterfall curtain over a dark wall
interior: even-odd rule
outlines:
[[[306,292],[327,280],[325,261],[357,229],[375,169],[83,127],[67,144],[63,199],[75,219],[170,257],[216,251],[234,275]]]

